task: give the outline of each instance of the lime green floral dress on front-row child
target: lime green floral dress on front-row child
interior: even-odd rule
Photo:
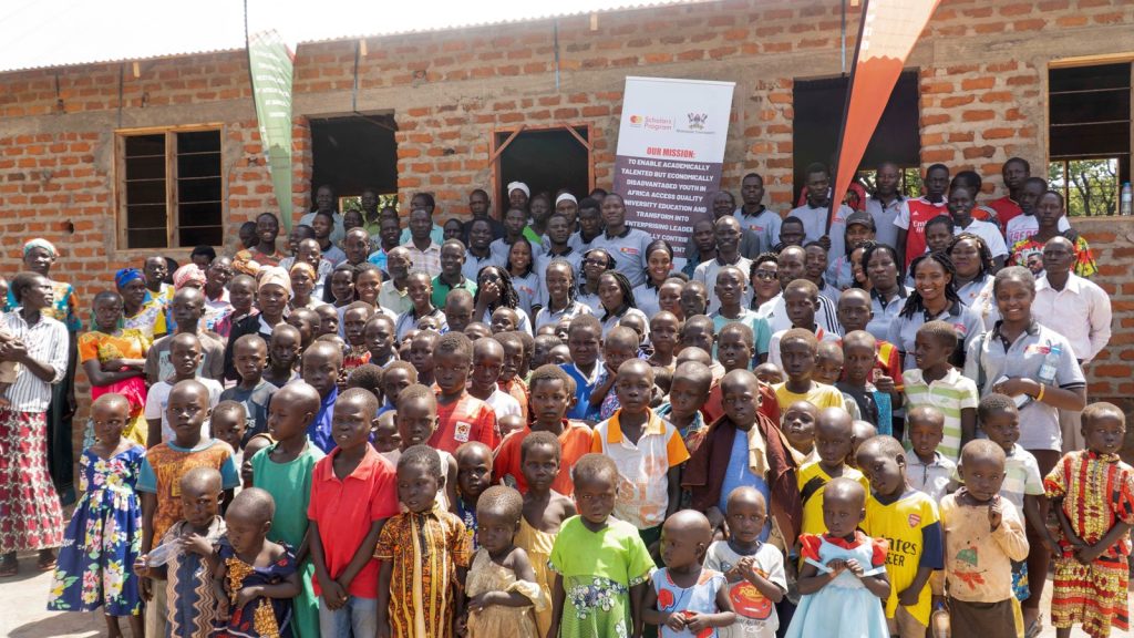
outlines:
[[[624,638],[631,624],[631,587],[650,578],[653,560],[634,526],[608,519],[591,531],[582,517],[564,521],[549,566],[564,579],[559,636]]]

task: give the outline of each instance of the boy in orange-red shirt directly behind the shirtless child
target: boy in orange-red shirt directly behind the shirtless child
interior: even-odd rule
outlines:
[[[545,431],[555,435],[562,448],[559,472],[551,489],[564,496],[572,496],[575,494],[572,468],[575,467],[575,461],[591,452],[592,436],[586,423],[567,418],[575,404],[575,379],[559,366],[541,366],[532,372],[527,388],[532,395],[532,425],[505,437],[492,463],[492,482],[502,481],[521,494],[526,494],[527,480],[524,478],[521,447],[530,434]]]

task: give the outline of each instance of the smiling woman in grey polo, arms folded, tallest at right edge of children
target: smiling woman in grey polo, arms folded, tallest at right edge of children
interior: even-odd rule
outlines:
[[[1001,319],[968,344],[965,376],[976,380],[981,396],[1006,394],[1021,405],[1016,443],[1035,456],[1040,476],[1046,477],[1063,452],[1059,411],[1083,410],[1086,380],[1067,338],[1032,316],[1035,277],[1031,271],[1008,267],[997,272],[992,294]],[[1050,364],[1049,375],[1044,375],[1046,364]],[[1027,526],[1027,539],[1032,546],[1027,556],[1031,596],[1022,605],[1031,635],[1039,619],[1049,549],[1032,526]]]

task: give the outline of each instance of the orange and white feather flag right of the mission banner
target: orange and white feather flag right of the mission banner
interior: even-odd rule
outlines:
[[[909,51],[938,3],[940,0],[865,1],[858,27],[858,48],[850,67],[850,91],[839,137],[835,192],[831,193],[831,210],[827,215],[828,230],[835,207],[846,195],[858,162],[866,152],[866,144],[886,110],[902,66],[906,64]]]

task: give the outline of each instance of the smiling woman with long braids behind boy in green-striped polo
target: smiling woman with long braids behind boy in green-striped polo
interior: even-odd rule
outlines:
[[[917,367],[914,360],[914,338],[926,321],[945,321],[957,330],[957,352],[954,366],[964,363],[965,347],[983,331],[980,317],[965,308],[953,286],[956,269],[943,252],[930,252],[909,265],[914,289],[906,297],[902,311],[890,322],[886,341],[894,344],[903,356],[903,369]]]

